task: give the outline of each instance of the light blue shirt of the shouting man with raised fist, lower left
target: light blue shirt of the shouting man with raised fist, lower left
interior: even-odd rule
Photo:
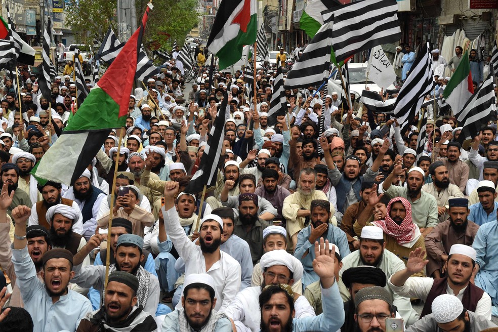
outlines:
[[[79,321],[92,311],[90,301],[74,291],[52,303],[45,284],[36,275],[36,268],[29,257],[28,248],[12,249],[12,262],[17,276],[17,285],[21,291],[26,309],[33,319],[34,332],[76,331]]]

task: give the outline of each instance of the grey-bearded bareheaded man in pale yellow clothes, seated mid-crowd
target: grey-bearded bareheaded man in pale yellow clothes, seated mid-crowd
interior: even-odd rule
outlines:
[[[305,168],[299,172],[298,191],[283,200],[282,214],[287,220],[287,234],[292,239],[292,247],[298,243],[298,233],[309,224],[311,215],[311,201],[315,199],[327,200],[321,190],[315,190],[316,172],[312,168]],[[329,222],[337,225],[334,205],[330,204]]]

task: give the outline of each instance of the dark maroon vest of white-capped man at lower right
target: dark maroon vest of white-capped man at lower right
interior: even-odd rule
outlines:
[[[432,313],[432,302],[438,296],[446,294],[447,285],[448,285],[447,277],[441,279],[434,279],[434,283],[432,284],[432,288],[429,294],[427,295],[424,309],[422,309],[422,314],[420,315],[420,318]],[[481,288],[474,286],[472,283],[469,282],[469,285],[464,291],[464,297],[462,298],[462,304],[464,305],[464,308],[469,311],[475,312],[477,307],[477,302],[479,302],[483,294],[484,291]]]

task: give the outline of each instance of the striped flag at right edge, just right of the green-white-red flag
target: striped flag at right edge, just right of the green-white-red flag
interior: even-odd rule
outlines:
[[[476,137],[488,125],[490,120],[496,120],[496,100],[491,74],[488,75],[464,105],[457,120],[459,126],[463,127],[458,137],[461,144],[465,140]]]

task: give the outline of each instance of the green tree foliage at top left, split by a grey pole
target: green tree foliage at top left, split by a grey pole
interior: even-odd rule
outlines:
[[[132,0],[133,1],[133,0]],[[115,0],[69,0],[66,6],[66,26],[71,26],[78,43],[92,45],[102,40],[111,27],[117,33]],[[148,0],[135,0],[137,27],[140,26]],[[66,2],[67,4],[67,2]],[[158,47],[171,51],[177,39],[182,45],[187,33],[198,24],[196,0],[154,0],[149,14],[143,44],[146,48]],[[168,38],[168,35],[170,37]]]

